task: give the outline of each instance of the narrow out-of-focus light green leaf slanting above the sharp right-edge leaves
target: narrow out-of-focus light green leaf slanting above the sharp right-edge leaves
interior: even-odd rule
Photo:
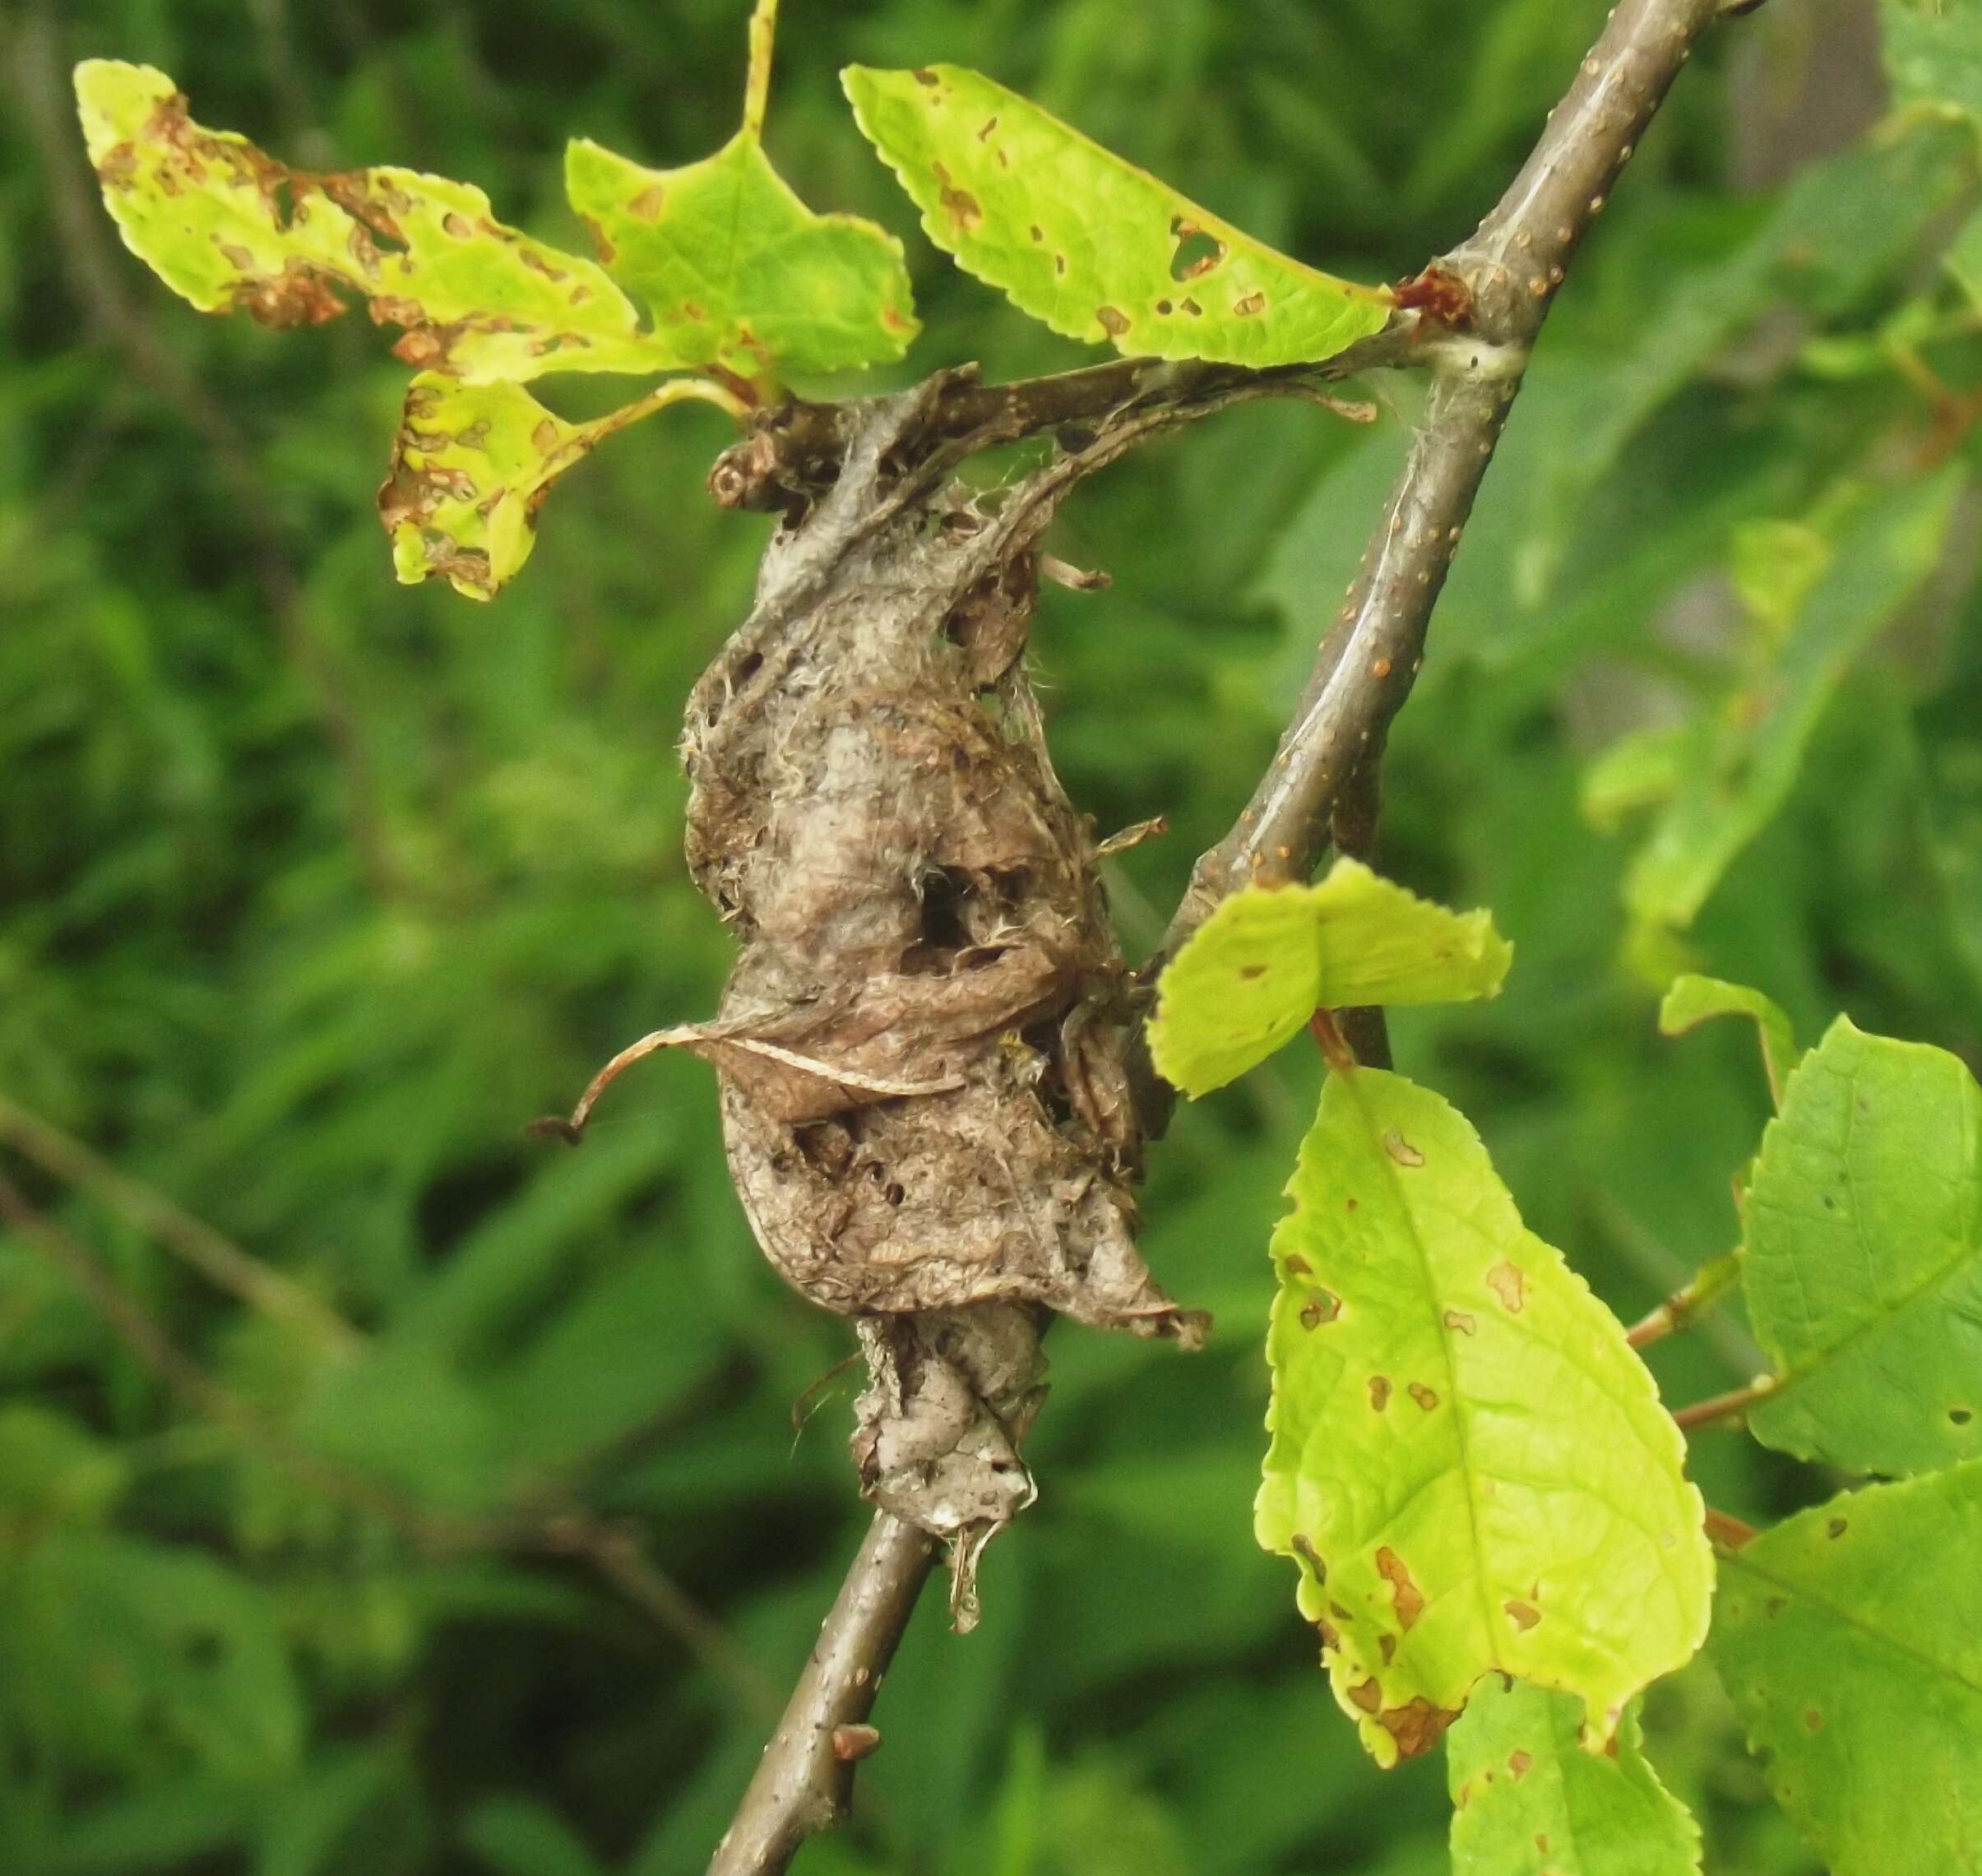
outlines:
[[[1960,470],[1861,504],[1798,617],[1766,635],[1744,682],[1703,712],[1677,752],[1677,793],[1631,865],[1625,902],[1687,926],[1734,857],[1788,801],[1804,750],[1851,662],[1932,569]]]

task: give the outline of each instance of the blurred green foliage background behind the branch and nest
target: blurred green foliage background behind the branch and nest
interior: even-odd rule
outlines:
[[[721,418],[616,438],[494,607],[394,587],[383,335],[168,299],[65,89],[77,58],[147,59],[291,161],[470,178],[577,242],[563,137],[714,149],[743,14],[0,8],[8,1876],[700,1870],[856,1539],[852,1376],[793,1436],[850,1337],[751,1247],[708,1073],[644,1065],[579,1154],[521,1136],[725,970],[672,754],[765,531],[702,492]],[[1471,230],[1601,14],[787,0],[769,149],[908,238],[902,381],[1054,369],[1082,355],[914,232],[840,63],[979,65],[1266,240],[1397,278]],[[1385,871],[1516,940],[1506,997],[1399,1023],[1399,1065],[1625,1319],[1732,1241],[1766,1114],[1746,1033],[1657,1039],[1671,968],[1760,984],[1806,1041],[1849,1009],[1982,1059],[1982,240],[1974,123],[1934,95],[1911,65],[1893,89],[1859,0],[1714,38],[1544,335],[1391,744]],[[1116,581],[1043,607],[1064,777],[1104,829],[1173,827],[1112,877],[1136,954],[1401,458],[1413,387],[1370,395],[1370,428],[1231,412],[1058,524]],[[1853,611],[1831,575],[1907,526],[1930,575]],[[856,1826],[807,1876],[1445,1868],[1439,1761],[1362,1759],[1251,1541],[1265,1241],[1316,1073],[1280,1059],[1156,1154],[1146,1247],[1213,1343],[1052,1339],[1041,1503],[975,1636],[920,1612]],[[1653,1364],[1681,1400],[1756,1356],[1722,1317]],[[1748,1519],[1823,1487],[1732,1432],[1695,1450]],[[1708,1670],[1647,1721],[1708,1868],[1814,1868]]]

